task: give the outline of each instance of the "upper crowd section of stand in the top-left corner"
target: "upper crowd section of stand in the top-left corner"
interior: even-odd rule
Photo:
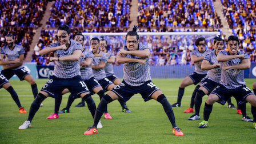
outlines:
[[[1,0],[0,14],[1,27],[38,27],[46,9],[47,1]]]

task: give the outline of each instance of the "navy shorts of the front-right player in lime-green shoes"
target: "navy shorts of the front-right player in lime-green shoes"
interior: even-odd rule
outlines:
[[[251,95],[253,91],[251,91],[246,85],[237,87],[236,89],[227,89],[225,86],[219,84],[211,94],[216,94],[219,97],[218,103],[221,105],[225,105],[226,101],[233,95],[233,97],[237,100],[238,104],[246,103],[245,100],[248,95]]]

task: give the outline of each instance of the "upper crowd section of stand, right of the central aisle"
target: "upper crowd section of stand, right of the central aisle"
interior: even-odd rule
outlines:
[[[139,0],[138,23],[147,27],[219,28],[221,22],[213,1]]]

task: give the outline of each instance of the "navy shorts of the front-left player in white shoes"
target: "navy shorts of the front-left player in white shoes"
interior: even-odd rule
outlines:
[[[80,97],[82,93],[90,92],[79,75],[74,78],[66,79],[53,76],[45,83],[41,91],[50,94],[50,97],[58,98],[59,94],[61,94],[64,89],[69,89],[74,98]]]

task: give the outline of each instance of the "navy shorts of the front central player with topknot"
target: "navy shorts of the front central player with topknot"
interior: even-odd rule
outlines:
[[[154,85],[152,81],[147,81],[141,86],[130,86],[125,81],[122,81],[119,85],[115,86],[111,91],[118,95],[123,101],[128,101],[134,94],[141,94],[144,101],[149,101],[151,95],[160,90]]]

